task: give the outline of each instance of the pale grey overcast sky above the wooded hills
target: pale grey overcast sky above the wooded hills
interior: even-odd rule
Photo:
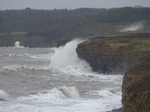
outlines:
[[[150,0],[0,0],[0,10],[6,9],[77,9],[115,8],[141,5],[150,7]]]

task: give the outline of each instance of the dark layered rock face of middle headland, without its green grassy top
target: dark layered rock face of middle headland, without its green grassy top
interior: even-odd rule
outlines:
[[[140,57],[147,54],[135,49],[135,46],[127,43],[88,41],[79,44],[76,51],[80,58],[90,63],[94,71],[124,74]]]

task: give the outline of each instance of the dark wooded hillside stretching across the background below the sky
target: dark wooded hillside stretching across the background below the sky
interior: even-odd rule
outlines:
[[[149,7],[0,10],[0,47],[52,47],[60,38],[150,30]],[[116,34],[113,34],[116,36]]]

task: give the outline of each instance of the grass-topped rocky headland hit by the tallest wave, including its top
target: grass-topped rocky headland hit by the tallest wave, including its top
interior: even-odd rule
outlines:
[[[90,63],[93,71],[104,74],[124,74],[137,60],[150,53],[150,44],[146,41],[149,39],[149,37],[144,39],[99,37],[80,43],[76,52],[81,59]]]

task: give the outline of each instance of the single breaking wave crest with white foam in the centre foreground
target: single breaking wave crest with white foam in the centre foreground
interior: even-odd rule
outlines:
[[[56,87],[53,88],[52,90],[45,90],[45,91],[40,91],[37,92],[37,94],[30,95],[29,97],[21,97],[19,99],[21,100],[39,100],[40,102],[43,100],[43,102],[51,102],[52,100],[55,99],[61,99],[61,98],[80,98],[79,92],[76,87],[67,87],[67,86],[62,86],[62,87]]]

